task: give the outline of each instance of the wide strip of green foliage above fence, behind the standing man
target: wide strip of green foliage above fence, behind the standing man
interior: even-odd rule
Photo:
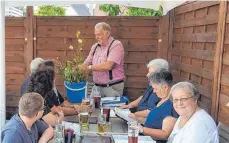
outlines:
[[[119,5],[103,4],[99,9],[107,12],[109,16],[126,15],[126,16],[163,16],[163,8],[160,6],[159,10],[148,8],[126,7],[121,11]],[[125,13],[125,9],[127,12]]]

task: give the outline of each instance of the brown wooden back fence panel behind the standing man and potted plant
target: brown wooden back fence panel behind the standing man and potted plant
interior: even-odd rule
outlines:
[[[157,58],[159,18],[155,17],[36,17],[35,57],[62,61],[71,60],[70,45],[77,47],[75,35],[81,32],[85,39],[83,56],[86,58],[94,39],[94,25],[107,22],[112,36],[120,40],[125,49],[125,94],[131,99],[142,95],[147,85],[146,64]],[[141,70],[139,70],[141,69]],[[140,80],[139,80],[140,79]],[[57,85],[64,94],[63,81]],[[130,89],[134,89],[132,92]],[[65,95],[65,94],[64,94]]]

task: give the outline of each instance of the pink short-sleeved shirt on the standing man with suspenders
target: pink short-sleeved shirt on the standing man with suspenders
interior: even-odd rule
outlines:
[[[95,43],[91,51],[84,61],[84,64],[87,65],[100,65],[106,61],[112,61],[115,63],[115,66],[112,69],[113,80],[109,80],[108,71],[93,71],[93,80],[98,84],[107,84],[113,81],[122,80],[125,78],[124,75],[124,48],[120,41],[115,40],[109,50],[109,55],[107,57],[107,50],[114,38],[110,37],[103,45],[98,46],[93,56],[93,52],[98,43]]]

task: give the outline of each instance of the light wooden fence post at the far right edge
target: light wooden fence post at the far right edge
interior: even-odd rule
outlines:
[[[226,13],[227,13],[227,1],[220,1],[219,18],[218,18],[218,25],[217,25],[217,41],[216,41],[216,50],[215,50],[214,68],[213,68],[213,91],[212,91],[212,105],[211,105],[211,115],[216,121],[218,120],[218,110],[219,110],[220,78],[222,73]]]

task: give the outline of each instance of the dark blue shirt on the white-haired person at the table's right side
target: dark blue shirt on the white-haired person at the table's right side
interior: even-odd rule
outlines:
[[[142,110],[152,110],[156,107],[157,103],[160,101],[160,98],[153,92],[152,86],[148,86],[146,91],[143,94],[142,99],[138,103],[137,111]]]

